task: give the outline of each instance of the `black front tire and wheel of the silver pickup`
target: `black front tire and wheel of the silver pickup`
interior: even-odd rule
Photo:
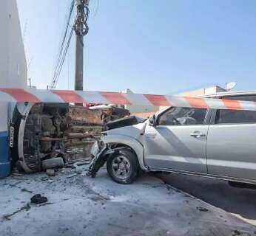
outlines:
[[[116,161],[118,161],[118,159],[123,161],[119,162],[118,167],[116,167]],[[124,162],[127,164],[124,164]],[[118,170],[122,169],[119,167],[121,163],[126,166],[124,167],[124,170],[122,170],[124,173],[121,173],[119,176],[117,172]],[[128,165],[129,170],[127,170]],[[117,168],[116,171],[115,168]],[[117,150],[116,153],[114,153],[112,156],[110,156],[109,159],[107,159],[107,172],[109,173],[110,177],[118,184],[132,184],[132,182],[135,181],[138,176],[138,170],[138,159],[135,153],[132,152],[132,150]]]

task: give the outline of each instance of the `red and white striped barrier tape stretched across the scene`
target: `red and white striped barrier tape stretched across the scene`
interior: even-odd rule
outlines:
[[[0,102],[155,105],[256,111],[256,102],[104,91],[0,89]]]

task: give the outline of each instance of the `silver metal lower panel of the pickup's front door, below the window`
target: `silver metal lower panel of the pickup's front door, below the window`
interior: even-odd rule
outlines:
[[[191,136],[195,131],[206,135],[207,125],[149,126],[146,129],[145,162],[149,167],[207,173],[206,136]]]

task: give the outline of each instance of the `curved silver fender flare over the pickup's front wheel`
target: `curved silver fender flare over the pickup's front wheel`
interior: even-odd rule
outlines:
[[[111,134],[107,136],[103,136],[101,140],[106,145],[110,144],[120,144],[125,145],[127,147],[132,148],[132,150],[136,153],[138,157],[138,162],[142,170],[149,170],[144,163],[144,147],[141,145],[138,140],[133,139],[130,136],[120,135],[120,134]]]

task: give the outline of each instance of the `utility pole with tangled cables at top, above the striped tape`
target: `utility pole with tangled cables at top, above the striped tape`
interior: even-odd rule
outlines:
[[[89,32],[87,19],[90,13],[90,0],[75,0],[77,15],[75,18],[74,30],[75,41],[75,90],[83,90],[84,86],[84,36]]]

